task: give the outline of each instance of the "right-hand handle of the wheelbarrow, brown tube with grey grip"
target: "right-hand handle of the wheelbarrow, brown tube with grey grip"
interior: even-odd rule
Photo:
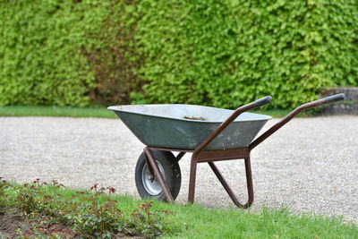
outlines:
[[[260,135],[260,137],[258,137],[255,141],[252,141],[251,144],[249,145],[249,149],[251,150],[251,149],[255,148],[256,146],[258,146],[262,141],[265,141],[270,135],[272,135],[274,132],[277,132],[277,130],[279,128],[281,128],[287,122],[292,120],[295,115],[300,114],[304,110],[313,108],[313,107],[320,107],[320,106],[330,104],[333,102],[337,102],[340,100],[344,100],[344,99],[345,99],[345,94],[340,93],[340,94],[333,95],[333,96],[330,96],[327,98],[322,98],[322,99],[319,99],[316,101],[312,101],[312,102],[303,104],[301,107],[296,107],[290,114],[286,115],[277,124],[274,124],[271,128],[269,128],[267,132],[262,133]]]

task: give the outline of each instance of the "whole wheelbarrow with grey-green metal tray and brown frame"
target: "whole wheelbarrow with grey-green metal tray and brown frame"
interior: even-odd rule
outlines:
[[[146,145],[135,168],[135,183],[141,198],[174,203],[181,187],[179,160],[192,153],[188,201],[194,202],[198,163],[208,163],[239,208],[251,206],[253,196],[251,150],[303,110],[345,99],[343,93],[295,108],[258,138],[255,136],[271,118],[248,113],[264,106],[271,97],[260,98],[236,110],[193,105],[132,105],[108,107]],[[173,152],[178,152],[175,156]],[[241,203],[214,164],[244,159],[248,201]]]

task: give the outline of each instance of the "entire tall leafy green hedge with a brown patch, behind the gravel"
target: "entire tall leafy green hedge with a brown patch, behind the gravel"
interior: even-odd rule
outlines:
[[[358,85],[355,0],[3,0],[0,14],[0,105],[125,104],[132,92],[294,107]]]

